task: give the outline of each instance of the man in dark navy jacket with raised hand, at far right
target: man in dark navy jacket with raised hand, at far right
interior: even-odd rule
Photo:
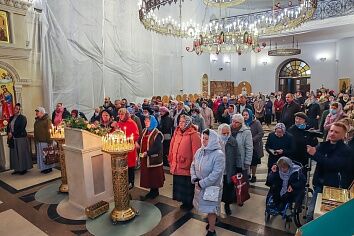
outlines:
[[[354,160],[351,149],[344,143],[347,127],[341,122],[332,124],[328,132],[328,141],[317,149],[307,146],[307,152],[317,162],[313,176],[314,193],[307,212],[308,220],[313,219],[317,194],[323,186],[348,188],[353,182]]]

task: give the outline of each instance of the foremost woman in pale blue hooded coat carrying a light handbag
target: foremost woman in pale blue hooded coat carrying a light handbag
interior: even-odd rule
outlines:
[[[195,185],[193,204],[199,212],[208,214],[207,235],[216,235],[215,221],[220,213],[224,169],[225,155],[221,151],[219,137],[215,131],[206,129],[202,133],[202,147],[196,152],[190,171]],[[211,188],[216,191],[207,199]]]

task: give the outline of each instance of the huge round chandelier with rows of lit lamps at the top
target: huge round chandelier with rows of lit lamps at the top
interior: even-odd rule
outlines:
[[[154,11],[162,12],[165,5],[179,2],[180,17],[161,18]],[[240,4],[241,0],[203,0],[207,7],[228,7]],[[140,0],[139,19],[144,27],[162,35],[192,38],[193,46],[188,52],[200,55],[208,53],[259,52],[266,46],[259,43],[260,36],[291,30],[309,20],[316,10],[317,0],[302,0],[301,4],[287,8],[270,9],[243,15],[213,19],[204,24],[193,20],[182,21],[184,0]]]

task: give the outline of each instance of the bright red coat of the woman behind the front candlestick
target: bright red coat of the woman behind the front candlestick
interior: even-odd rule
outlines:
[[[117,127],[120,128],[122,131],[126,132],[127,138],[129,138],[133,134],[134,141],[135,142],[138,141],[139,129],[136,123],[131,118],[129,118],[125,122],[118,121]],[[136,148],[134,148],[133,151],[128,153],[128,167],[135,167],[136,159],[137,159],[137,153],[136,153]]]

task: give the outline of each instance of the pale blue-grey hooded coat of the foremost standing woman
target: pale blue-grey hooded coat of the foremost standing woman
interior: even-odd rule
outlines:
[[[195,184],[193,205],[199,212],[205,214],[220,213],[224,169],[225,156],[221,151],[218,135],[215,131],[210,130],[208,145],[198,149],[190,169],[191,181]],[[201,188],[198,187],[198,179]],[[217,202],[203,199],[205,189],[209,186],[220,187]]]

